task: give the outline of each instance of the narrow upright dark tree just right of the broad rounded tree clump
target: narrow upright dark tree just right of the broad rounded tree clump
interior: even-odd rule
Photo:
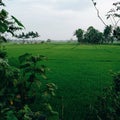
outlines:
[[[112,26],[105,26],[105,29],[103,31],[103,35],[104,35],[104,42],[108,43],[111,41],[111,37],[112,37]],[[111,41],[113,42],[113,41]]]

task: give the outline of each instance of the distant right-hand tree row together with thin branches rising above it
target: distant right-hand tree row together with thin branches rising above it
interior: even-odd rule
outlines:
[[[100,32],[93,26],[88,27],[87,31],[84,31],[81,28],[77,29],[74,35],[77,37],[78,42],[104,44],[113,43],[114,41],[120,41],[120,27],[118,25],[118,23],[120,22],[120,2],[113,3],[113,8],[111,8],[107,12],[106,18],[111,20],[111,25],[108,25],[100,16],[99,9],[97,8],[97,3],[94,0],[91,1],[97,12],[98,18],[105,25],[105,28],[103,32]]]

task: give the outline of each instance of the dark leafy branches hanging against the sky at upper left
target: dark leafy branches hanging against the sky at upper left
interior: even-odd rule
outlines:
[[[0,1],[1,6],[5,6],[2,1]],[[19,22],[14,16],[9,16],[5,9],[0,10],[0,41],[6,42],[5,34],[10,33],[13,36],[15,31],[21,30],[24,26]]]

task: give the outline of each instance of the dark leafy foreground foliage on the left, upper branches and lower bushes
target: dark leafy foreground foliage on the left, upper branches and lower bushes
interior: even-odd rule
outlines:
[[[0,1],[0,6],[4,3]],[[15,35],[16,30],[24,26],[14,16],[8,16],[4,9],[0,11],[0,41],[6,41],[5,33]],[[33,33],[29,33],[29,35]],[[37,34],[36,34],[37,35]],[[57,120],[58,113],[52,110],[49,100],[55,95],[56,86],[47,83],[44,87],[41,79],[46,79],[46,67],[41,62],[46,57],[24,54],[19,57],[19,68],[11,66],[6,52],[0,51],[0,119],[1,120]],[[32,109],[39,92],[40,108]]]

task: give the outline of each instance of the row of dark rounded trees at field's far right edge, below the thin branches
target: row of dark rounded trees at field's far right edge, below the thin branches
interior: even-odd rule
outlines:
[[[88,27],[87,31],[79,28],[74,35],[77,37],[78,43],[90,44],[106,44],[120,41],[120,27],[113,29],[112,25],[105,26],[103,32],[95,29],[93,26]]]

